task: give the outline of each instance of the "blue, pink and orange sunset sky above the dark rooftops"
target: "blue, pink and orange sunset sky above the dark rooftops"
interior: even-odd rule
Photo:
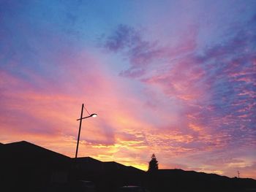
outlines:
[[[0,142],[256,179],[256,1],[0,0]],[[88,115],[84,113],[84,115]]]

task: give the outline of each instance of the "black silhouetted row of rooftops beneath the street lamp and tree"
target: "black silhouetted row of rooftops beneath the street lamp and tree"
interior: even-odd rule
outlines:
[[[256,191],[256,180],[159,169],[144,172],[114,161],[90,157],[69,158],[30,142],[0,143],[0,191],[74,191],[71,183],[92,181],[96,191],[118,191],[124,185],[140,185],[158,191]]]

